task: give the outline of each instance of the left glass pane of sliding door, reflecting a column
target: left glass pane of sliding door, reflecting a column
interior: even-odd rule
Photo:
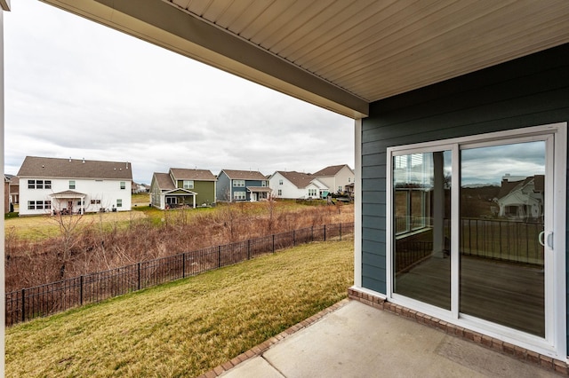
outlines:
[[[451,152],[393,160],[393,291],[451,308]]]

